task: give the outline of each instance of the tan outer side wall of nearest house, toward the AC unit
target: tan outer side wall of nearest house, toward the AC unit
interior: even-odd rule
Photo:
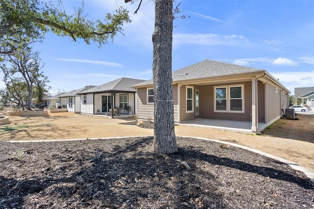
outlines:
[[[281,95],[280,90],[270,83],[266,84],[266,109],[267,121],[272,121],[281,116]]]

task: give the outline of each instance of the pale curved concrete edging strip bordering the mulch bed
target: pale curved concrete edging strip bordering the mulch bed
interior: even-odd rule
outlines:
[[[51,141],[75,141],[75,140],[96,140],[96,139],[127,139],[127,138],[136,138],[136,137],[154,137],[154,136],[131,136],[131,137],[105,137],[105,138],[86,138],[86,139],[56,139],[56,140],[27,140],[27,141],[6,141],[6,142],[11,142],[11,143],[24,143],[24,142],[51,142]],[[265,157],[271,158],[273,160],[277,160],[279,162],[282,163],[286,163],[288,164],[293,170],[298,170],[303,172],[313,183],[314,183],[314,173],[302,166],[300,166],[297,163],[288,161],[284,158],[280,158],[274,155],[270,155],[268,153],[262,152],[260,150],[257,149],[252,149],[250,147],[247,146],[242,146],[239,144],[235,144],[232,142],[228,142],[228,141],[222,141],[222,140],[217,140],[217,139],[208,139],[208,138],[202,138],[202,137],[185,137],[185,136],[177,136],[177,137],[182,137],[182,138],[194,138],[194,139],[201,139],[201,140],[209,140],[209,141],[214,141],[214,142],[218,142],[218,143],[222,143],[222,144],[230,144],[231,146],[234,147],[238,147],[241,149],[245,149],[251,152],[255,152],[257,154],[263,155]]]

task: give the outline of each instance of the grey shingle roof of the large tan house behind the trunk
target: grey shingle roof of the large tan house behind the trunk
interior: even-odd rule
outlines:
[[[240,74],[240,73],[247,73],[247,72],[260,72],[260,71],[264,71],[264,70],[207,59],[202,62],[196,63],[194,65],[173,71],[172,80],[184,81],[184,80],[209,78],[209,77]],[[136,86],[145,86],[145,85],[152,85],[152,84],[153,84],[153,79],[139,83]]]

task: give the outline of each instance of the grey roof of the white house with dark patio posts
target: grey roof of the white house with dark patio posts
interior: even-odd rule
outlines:
[[[140,79],[134,79],[134,78],[119,78],[114,81],[110,81],[108,83],[105,83],[100,86],[96,86],[94,88],[81,91],[79,94],[85,94],[85,93],[135,93],[136,90],[132,88],[131,86],[136,85],[140,82],[143,82],[144,80]]]

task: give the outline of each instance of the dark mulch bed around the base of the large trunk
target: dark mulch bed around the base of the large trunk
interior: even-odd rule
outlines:
[[[152,141],[2,141],[0,208],[314,208],[314,184],[285,163],[192,138],[157,155]]]

